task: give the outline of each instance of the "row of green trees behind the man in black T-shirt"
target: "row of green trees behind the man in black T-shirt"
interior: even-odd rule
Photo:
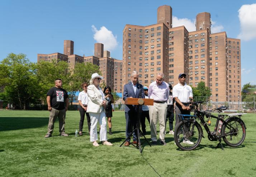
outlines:
[[[16,108],[28,109],[29,105],[46,105],[46,93],[54,87],[55,79],[62,79],[63,89],[68,91],[71,102],[80,85],[91,79],[99,66],[91,63],[69,65],[65,61],[51,60],[32,63],[24,54],[9,54],[0,63],[0,99]]]

